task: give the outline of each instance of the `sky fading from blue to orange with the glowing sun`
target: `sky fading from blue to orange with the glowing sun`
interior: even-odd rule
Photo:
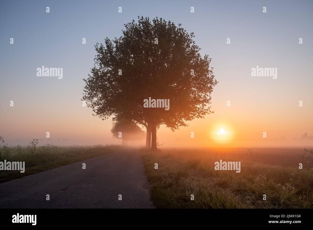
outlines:
[[[41,140],[39,143],[59,146],[120,143],[110,133],[111,119],[103,121],[82,106],[82,79],[93,67],[95,43],[104,43],[105,37],[120,37],[124,24],[136,21],[138,16],[181,23],[187,32],[194,32],[201,55],[212,58],[211,66],[219,82],[211,95],[214,114],[190,121],[175,132],[162,126],[157,134],[161,144],[313,143],[309,138],[313,136],[312,1],[0,4],[0,136],[10,146],[27,145],[34,138]],[[46,7],[50,13],[46,13]],[[122,13],[118,13],[119,7]],[[82,38],[86,38],[86,44],[82,44]],[[37,76],[36,69],[41,66],[63,68],[63,78]],[[257,66],[277,68],[277,79],[251,76],[251,68]],[[219,133],[220,129],[224,134]],[[305,132],[308,138],[294,139]]]

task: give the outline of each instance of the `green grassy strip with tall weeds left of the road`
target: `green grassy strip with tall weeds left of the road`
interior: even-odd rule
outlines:
[[[25,161],[25,172],[0,171],[0,183],[101,156],[119,149],[121,146],[114,145],[59,147],[48,144],[37,146],[35,140],[28,147],[8,148],[1,146],[0,161],[4,161],[4,159],[7,162]]]

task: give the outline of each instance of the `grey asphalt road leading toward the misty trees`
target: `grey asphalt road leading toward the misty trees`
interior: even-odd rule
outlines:
[[[83,163],[86,169],[82,169]],[[118,200],[120,194],[122,200]],[[2,183],[0,208],[153,208],[153,205],[140,153],[128,149]]]

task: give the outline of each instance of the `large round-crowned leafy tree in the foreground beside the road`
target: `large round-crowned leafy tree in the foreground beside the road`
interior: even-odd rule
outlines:
[[[156,150],[160,125],[174,131],[212,113],[211,93],[218,82],[211,59],[201,56],[193,33],[162,18],[138,19],[125,24],[120,38],[95,45],[95,64],[84,79],[83,100],[102,119],[113,115],[113,120],[144,125],[147,139],[151,130],[151,150]],[[149,97],[169,100],[169,110],[144,108]]]

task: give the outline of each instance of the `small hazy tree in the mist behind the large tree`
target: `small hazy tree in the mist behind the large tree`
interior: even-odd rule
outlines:
[[[127,141],[142,140],[145,137],[145,132],[136,123],[128,120],[113,122],[111,133],[113,137],[122,139],[123,145]]]

